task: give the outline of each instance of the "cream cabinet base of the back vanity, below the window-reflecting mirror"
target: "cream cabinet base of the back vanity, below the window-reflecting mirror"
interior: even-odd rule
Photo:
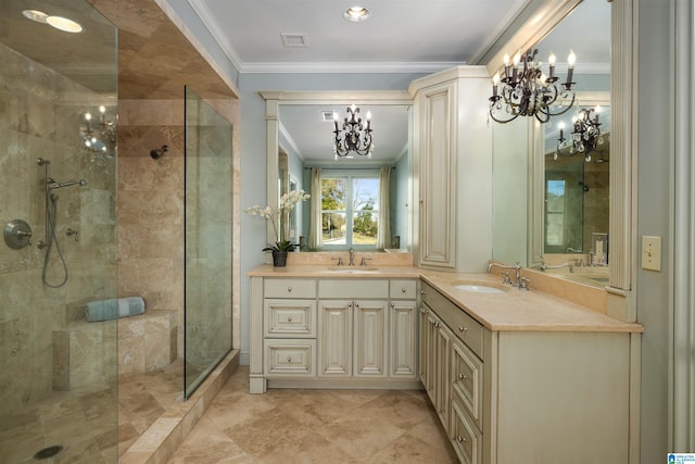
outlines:
[[[417,279],[252,277],[251,392],[417,388]]]

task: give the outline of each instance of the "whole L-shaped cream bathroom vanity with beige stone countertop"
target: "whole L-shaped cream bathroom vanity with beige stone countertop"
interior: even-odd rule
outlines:
[[[465,463],[632,462],[642,327],[490,274],[264,265],[251,392],[425,388]]]

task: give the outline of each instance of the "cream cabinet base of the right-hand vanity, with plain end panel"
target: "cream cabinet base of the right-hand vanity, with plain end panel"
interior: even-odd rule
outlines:
[[[419,375],[462,462],[634,462],[639,333],[490,330],[421,286]]]

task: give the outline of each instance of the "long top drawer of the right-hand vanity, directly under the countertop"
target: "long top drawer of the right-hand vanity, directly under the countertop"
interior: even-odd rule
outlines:
[[[484,327],[430,285],[422,283],[422,302],[434,310],[454,335],[473,353],[484,360],[482,351]]]

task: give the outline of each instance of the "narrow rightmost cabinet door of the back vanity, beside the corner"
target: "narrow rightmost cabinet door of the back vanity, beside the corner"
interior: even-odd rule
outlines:
[[[416,378],[416,311],[415,301],[391,303],[391,377]]]

